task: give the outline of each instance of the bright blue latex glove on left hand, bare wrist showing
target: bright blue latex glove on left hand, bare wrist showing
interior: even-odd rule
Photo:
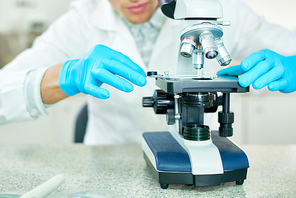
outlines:
[[[59,76],[59,86],[67,95],[82,92],[101,99],[110,97],[109,91],[100,88],[103,83],[131,92],[134,87],[129,81],[144,86],[144,70],[127,56],[103,45],[96,45],[81,59],[65,62]]]

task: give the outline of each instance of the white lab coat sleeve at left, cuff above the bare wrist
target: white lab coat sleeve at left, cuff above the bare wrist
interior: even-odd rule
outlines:
[[[73,7],[0,70],[0,125],[47,114],[40,94],[42,77],[48,67],[83,55],[85,20]]]

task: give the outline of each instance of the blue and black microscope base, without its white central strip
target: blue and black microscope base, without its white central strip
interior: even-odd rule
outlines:
[[[218,186],[236,182],[242,185],[246,179],[249,167],[246,154],[218,132],[212,132],[212,141],[219,149],[223,174],[193,175],[189,155],[169,132],[144,133],[143,141],[146,164],[163,189],[169,184]]]

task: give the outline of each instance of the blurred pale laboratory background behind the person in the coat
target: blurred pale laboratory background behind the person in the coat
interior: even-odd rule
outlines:
[[[29,48],[35,37],[67,11],[71,1],[0,0],[0,68]],[[295,0],[244,2],[269,22],[296,31]],[[48,116],[36,121],[0,126],[0,143],[70,144],[76,116],[85,103],[86,97],[78,94],[53,105]],[[247,94],[232,94],[231,110],[235,113],[236,143],[296,143],[296,93],[252,89]]]

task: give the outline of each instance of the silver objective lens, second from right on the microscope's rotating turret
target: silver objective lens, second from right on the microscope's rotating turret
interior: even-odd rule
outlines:
[[[201,43],[205,57],[213,59],[218,56],[218,48],[215,43],[214,35],[212,32],[205,31],[199,36],[199,42]]]

